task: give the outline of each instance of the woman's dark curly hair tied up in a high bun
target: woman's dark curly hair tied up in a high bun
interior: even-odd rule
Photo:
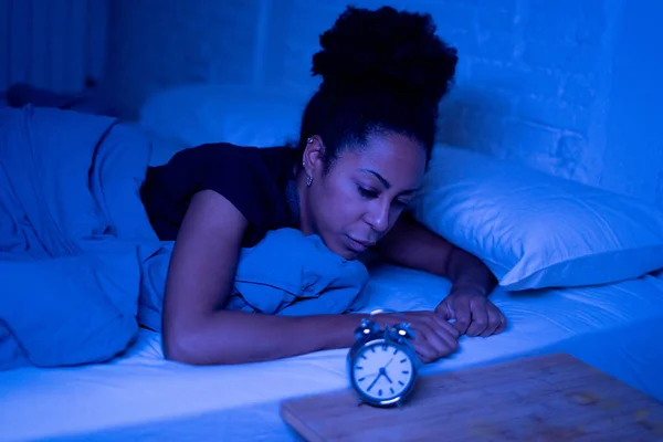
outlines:
[[[323,82],[304,110],[299,150],[319,135],[328,170],[368,136],[397,133],[422,143],[430,159],[439,103],[457,63],[456,50],[435,31],[428,13],[347,7],[313,56],[312,74]]]

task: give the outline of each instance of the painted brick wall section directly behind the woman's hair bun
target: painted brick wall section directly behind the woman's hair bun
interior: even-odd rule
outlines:
[[[305,82],[315,30],[330,24],[345,3],[329,0],[313,11],[311,2],[294,2],[288,40],[298,44],[284,57],[291,83]],[[443,104],[441,140],[592,181],[597,171],[583,152],[593,126],[603,124],[601,73],[610,57],[617,1],[390,3],[431,11],[441,36],[459,48],[459,78]],[[303,50],[302,42],[313,44]]]

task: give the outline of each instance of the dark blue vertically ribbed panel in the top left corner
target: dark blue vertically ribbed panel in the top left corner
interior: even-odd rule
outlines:
[[[0,91],[80,91],[106,69],[107,0],[0,0]]]

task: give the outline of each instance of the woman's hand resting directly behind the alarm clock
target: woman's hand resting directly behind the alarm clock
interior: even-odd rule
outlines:
[[[378,324],[410,323],[414,332],[414,350],[422,362],[433,362],[459,348],[460,332],[443,315],[435,312],[406,312],[376,315]]]

